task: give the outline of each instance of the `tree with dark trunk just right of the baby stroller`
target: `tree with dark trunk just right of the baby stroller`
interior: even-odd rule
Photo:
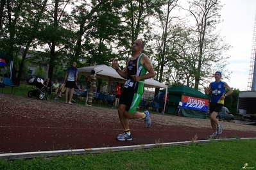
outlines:
[[[43,32],[47,35],[46,42],[49,47],[48,77],[50,79],[53,77],[53,69],[56,63],[61,60],[62,49],[68,49],[68,45],[71,47],[73,45],[73,31],[71,29],[73,21],[68,13],[65,12],[65,8],[69,3],[71,3],[71,0],[53,1],[47,9],[49,15],[47,15],[46,20],[44,20],[46,29],[44,29]],[[71,58],[72,56],[73,55],[71,55]]]

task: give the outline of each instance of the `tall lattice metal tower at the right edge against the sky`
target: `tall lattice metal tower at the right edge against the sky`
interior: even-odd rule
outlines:
[[[256,91],[256,13],[252,42],[252,57],[250,62],[250,73],[248,79],[248,91]]]

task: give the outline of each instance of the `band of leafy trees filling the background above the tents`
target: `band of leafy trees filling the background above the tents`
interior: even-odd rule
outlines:
[[[12,76],[19,84],[28,61],[49,65],[50,79],[62,75],[73,61],[89,66],[110,65],[116,59],[123,68],[133,40],[141,38],[157,81],[200,89],[216,70],[227,72],[225,52],[230,46],[215,30],[222,6],[219,0],[181,4],[178,0],[1,1],[0,50],[21,57]]]

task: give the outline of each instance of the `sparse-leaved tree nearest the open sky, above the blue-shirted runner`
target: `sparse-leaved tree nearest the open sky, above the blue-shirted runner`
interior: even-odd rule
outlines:
[[[218,11],[221,9],[218,0],[194,0],[189,1],[187,10],[194,19],[196,26],[191,27],[190,39],[192,46],[186,54],[192,63],[189,79],[194,81],[194,88],[198,89],[203,79],[212,77],[216,68],[223,70],[228,57],[223,52],[230,46],[222,42],[221,38],[214,31],[216,24],[220,22]]]

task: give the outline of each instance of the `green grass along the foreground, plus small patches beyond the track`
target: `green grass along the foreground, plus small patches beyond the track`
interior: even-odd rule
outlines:
[[[27,96],[30,89],[19,86],[15,95]],[[11,88],[4,88],[4,93],[10,92]],[[256,140],[236,138],[148,150],[0,160],[0,169],[243,169],[246,163],[247,168],[256,169]]]

